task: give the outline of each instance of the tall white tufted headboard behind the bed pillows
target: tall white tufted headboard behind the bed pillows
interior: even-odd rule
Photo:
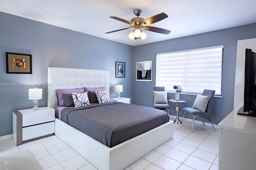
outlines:
[[[102,87],[109,92],[109,71],[48,67],[48,106],[58,105],[56,89]]]

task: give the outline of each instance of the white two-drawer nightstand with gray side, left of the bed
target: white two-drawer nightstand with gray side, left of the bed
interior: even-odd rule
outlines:
[[[13,140],[16,145],[50,136],[55,131],[55,111],[51,107],[24,109],[12,113]]]

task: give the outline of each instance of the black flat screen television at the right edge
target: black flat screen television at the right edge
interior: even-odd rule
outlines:
[[[252,49],[245,49],[244,71],[244,107],[238,111],[238,115],[256,117],[256,53]]]

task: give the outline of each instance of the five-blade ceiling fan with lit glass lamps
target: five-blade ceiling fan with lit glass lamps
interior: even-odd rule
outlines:
[[[147,30],[147,31],[152,31],[152,32],[157,32],[157,33],[161,33],[161,34],[169,34],[171,31],[170,30],[165,30],[163,28],[157,28],[157,27],[151,27],[148,26],[150,24],[153,24],[155,22],[161,21],[165,18],[168,17],[168,15],[166,15],[164,12],[154,15],[150,18],[147,18],[146,20],[144,20],[144,18],[139,17],[142,14],[142,10],[134,10],[133,11],[134,15],[136,15],[137,17],[132,18],[131,21],[127,21],[124,20],[122,18],[118,18],[116,16],[110,16],[110,18],[113,18],[115,20],[130,24],[131,27],[128,28],[123,28],[120,30],[115,30],[115,31],[110,31],[110,32],[106,32],[105,34],[109,34],[112,32],[118,32],[118,31],[122,31],[122,30],[130,30],[130,29],[134,29],[134,31],[132,31],[128,37],[131,40],[136,40],[141,38],[142,40],[144,40],[145,38],[147,38],[147,34],[145,32],[143,32],[141,29]]]

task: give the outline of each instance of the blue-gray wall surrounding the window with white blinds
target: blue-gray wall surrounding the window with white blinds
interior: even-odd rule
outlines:
[[[156,53],[179,51],[214,45],[224,45],[223,72],[222,72],[222,98],[214,97],[212,109],[212,123],[218,124],[234,107],[234,83],[236,71],[237,40],[256,38],[256,24],[239,26],[225,30],[208,32],[184,38],[166,40],[134,47],[133,61],[133,93],[132,101],[137,105],[152,107],[153,86],[156,84]],[[172,34],[172,32],[170,33]],[[152,60],[152,82],[136,81],[136,61]],[[168,99],[173,99],[174,93],[168,93]],[[181,103],[181,107],[192,107],[195,95],[180,95],[187,103]],[[171,115],[176,115],[174,103],[170,104]],[[180,112],[183,117],[184,113]],[[186,115],[192,119],[191,115]]]

